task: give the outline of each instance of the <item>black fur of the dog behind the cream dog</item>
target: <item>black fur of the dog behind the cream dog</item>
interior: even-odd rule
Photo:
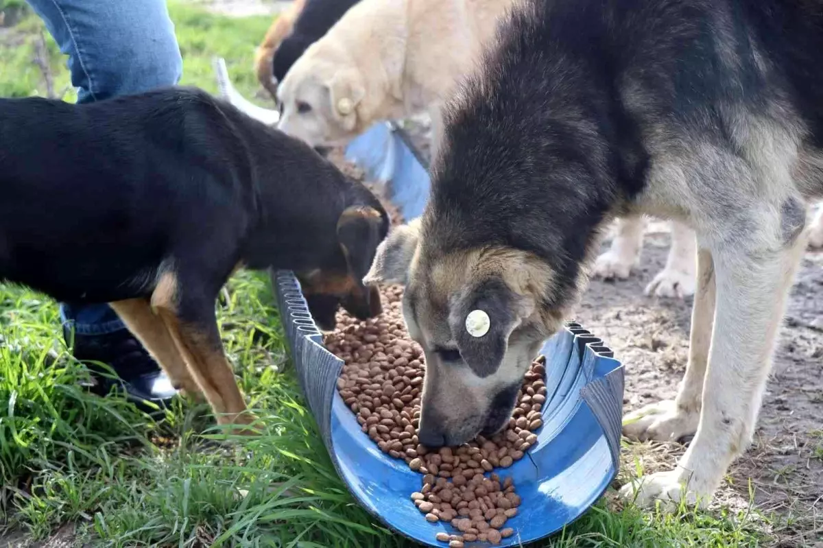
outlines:
[[[311,44],[323,38],[329,29],[359,0],[307,0],[295,20],[291,34],[277,48],[272,58],[273,75],[283,81],[291,65]]]

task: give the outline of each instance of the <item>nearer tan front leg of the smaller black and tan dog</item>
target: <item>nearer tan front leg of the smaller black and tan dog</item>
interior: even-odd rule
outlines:
[[[254,417],[246,412],[243,395],[223,351],[215,316],[217,290],[213,293],[179,287],[174,273],[166,272],[151,295],[151,307],[184,355],[189,373],[212,406],[218,424],[248,425]]]

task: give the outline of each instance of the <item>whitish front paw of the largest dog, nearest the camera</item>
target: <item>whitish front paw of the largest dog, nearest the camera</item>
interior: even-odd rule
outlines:
[[[700,503],[705,508],[707,497],[699,497],[689,490],[679,468],[661,471],[649,476],[642,476],[621,487],[621,499],[635,503],[640,508],[653,509],[660,501],[660,508],[665,512],[674,512],[685,501],[688,506]]]

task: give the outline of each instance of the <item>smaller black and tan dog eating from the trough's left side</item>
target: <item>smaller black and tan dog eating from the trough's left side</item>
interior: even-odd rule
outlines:
[[[331,329],[339,303],[379,313],[360,280],[387,231],[365,186],[203,91],[0,100],[0,281],[110,303],[221,423],[251,420],[215,318],[232,272],[297,272]]]

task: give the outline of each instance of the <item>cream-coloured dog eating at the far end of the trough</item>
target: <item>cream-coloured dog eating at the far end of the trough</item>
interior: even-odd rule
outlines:
[[[439,105],[514,0],[362,0],[309,46],[277,88],[279,128],[336,146],[380,120]]]

